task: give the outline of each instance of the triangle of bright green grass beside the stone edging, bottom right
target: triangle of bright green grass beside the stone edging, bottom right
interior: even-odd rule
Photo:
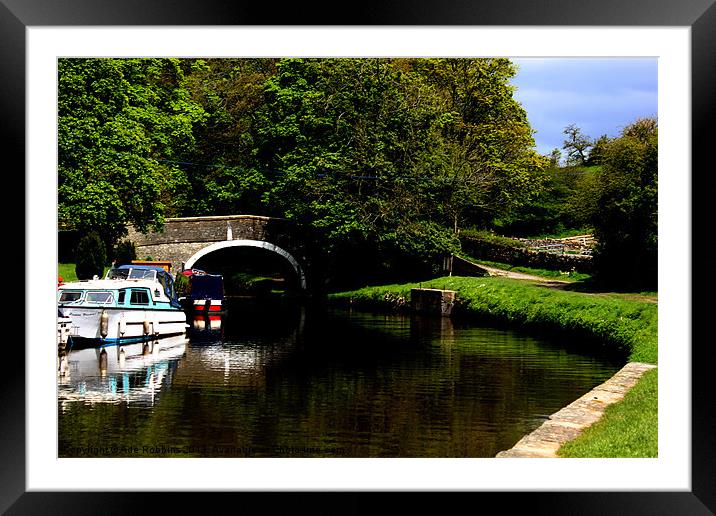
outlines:
[[[560,457],[657,457],[658,375],[652,369],[602,418],[557,452]]]

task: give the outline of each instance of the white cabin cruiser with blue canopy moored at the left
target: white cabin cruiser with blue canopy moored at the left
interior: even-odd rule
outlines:
[[[73,349],[156,340],[187,328],[174,279],[156,266],[122,265],[104,279],[64,283],[57,306],[72,321]]]

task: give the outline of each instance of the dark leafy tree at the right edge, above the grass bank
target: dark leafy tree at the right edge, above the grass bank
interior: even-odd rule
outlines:
[[[605,149],[593,220],[597,277],[609,285],[657,284],[658,126],[638,119]]]

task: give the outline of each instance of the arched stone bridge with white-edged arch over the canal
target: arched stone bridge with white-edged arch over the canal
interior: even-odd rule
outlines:
[[[202,257],[231,247],[254,247],[282,256],[306,289],[306,238],[286,219],[257,215],[224,215],[166,219],[161,232],[143,234],[128,228],[137,257],[172,262],[172,273],[191,269]]]

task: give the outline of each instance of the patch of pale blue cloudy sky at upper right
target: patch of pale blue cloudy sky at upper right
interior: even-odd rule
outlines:
[[[515,98],[536,131],[537,151],[562,150],[569,124],[592,138],[618,136],[657,116],[656,58],[514,58]]]

